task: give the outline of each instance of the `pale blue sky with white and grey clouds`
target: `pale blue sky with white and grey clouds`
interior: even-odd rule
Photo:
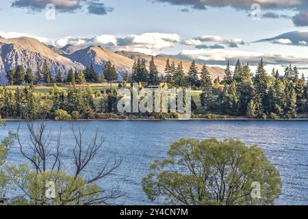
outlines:
[[[264,57],[268,70],[292,62],[308,77],[307,0],[4,0],[0,36],[222,67],[240,58],[252,70]]]

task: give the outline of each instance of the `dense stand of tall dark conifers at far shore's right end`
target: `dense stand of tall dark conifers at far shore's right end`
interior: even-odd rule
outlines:
[[[253,75],[248,64],[238,60],[233,72],[227,64],[222,81],[212,83],[208,73],[201,74],[201,88],[203,113],[278,119],[308,112],[305,77],[291,64],[283,76],[275,69],[268,75],[261,60]]]

